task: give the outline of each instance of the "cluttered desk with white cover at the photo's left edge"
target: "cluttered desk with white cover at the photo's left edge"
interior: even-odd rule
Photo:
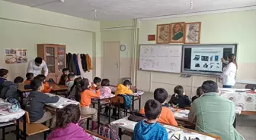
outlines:
[[[0,98],[1,102],[3,101]],[[16,140],[20,139],[20,118],[24,116],[25,111],[19,109],[18,112],[10,113],[8,108],[11,107],[10,103],[2,102],[0,103],[0,129],[2,129],[2,140],[5,140],[5,128],[9,126],[16,126]]]

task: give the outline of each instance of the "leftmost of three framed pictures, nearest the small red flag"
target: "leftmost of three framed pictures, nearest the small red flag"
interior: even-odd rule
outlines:
[[[156,27],[156,43],[168,44],[170,42],[170,24],[158,24]]]

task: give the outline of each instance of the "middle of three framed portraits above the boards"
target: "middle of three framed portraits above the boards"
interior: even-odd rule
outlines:
[[[170,42],[184,43],[185,22],[171,23],[170,25]]]

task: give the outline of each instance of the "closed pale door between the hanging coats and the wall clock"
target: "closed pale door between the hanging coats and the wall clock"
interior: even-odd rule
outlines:
[[[119,42],[104,42],[103,77],[110,80],[110,85],[119,83]]]

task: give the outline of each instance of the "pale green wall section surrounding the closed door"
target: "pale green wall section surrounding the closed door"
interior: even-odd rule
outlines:
[[[120,79],[131,77],[132,26],[133,20],[101,22],[101,50],[104,48],[104,42],[120,42],[120,45],[126,45],[126,51],[120,51]],[[103,59],[103,51],[101,56]],[[103,67],[101,67],[101,72],[103,72]]]

